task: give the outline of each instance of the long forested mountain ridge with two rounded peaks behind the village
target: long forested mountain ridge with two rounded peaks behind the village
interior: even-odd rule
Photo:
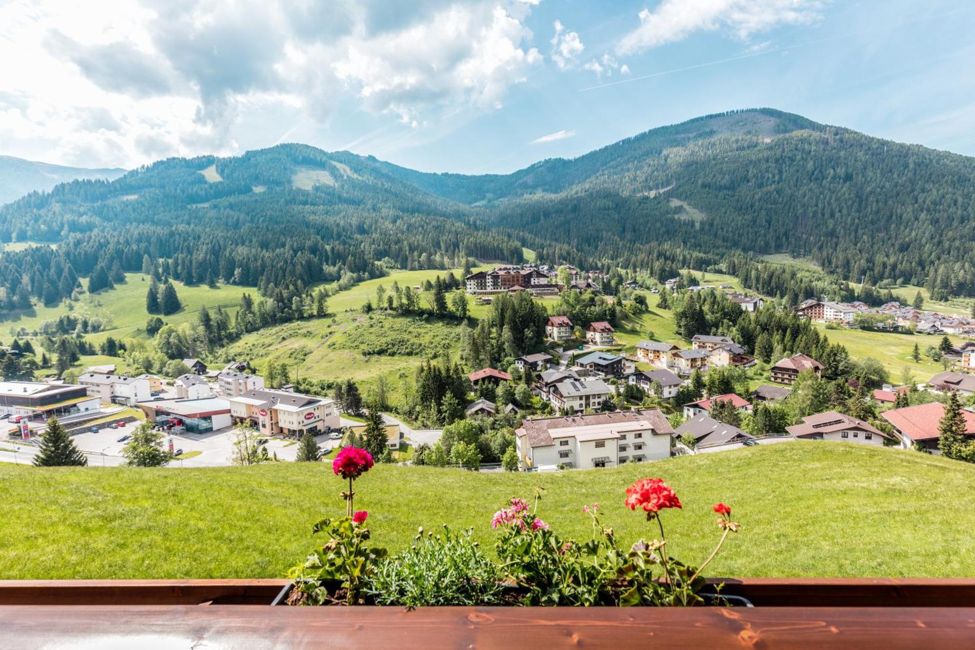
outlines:
[[[386,266],[475,257],[677,268],[767,253],[841,279],[975,295],[975,159],[770,108],[707,115],[507,175],[428,174],[281,144],[171,158],[0,207],[0,296],[58,300],[87,275],[171,260],[173,276],[298,291]],[[23,278],[28,282],[25,286]],[[21,291],[22,289],[22,291]],[[20,295],[20,299],[17,297]],[[281,305],[287,301],[281,300]]]

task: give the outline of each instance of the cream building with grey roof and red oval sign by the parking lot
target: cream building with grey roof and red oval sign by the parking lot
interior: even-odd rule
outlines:
[[[338,409],[328,398],[264,388],[228,397],[227,401],[234,420],[250,423],[261,435],[318,435],[339,426]]]

